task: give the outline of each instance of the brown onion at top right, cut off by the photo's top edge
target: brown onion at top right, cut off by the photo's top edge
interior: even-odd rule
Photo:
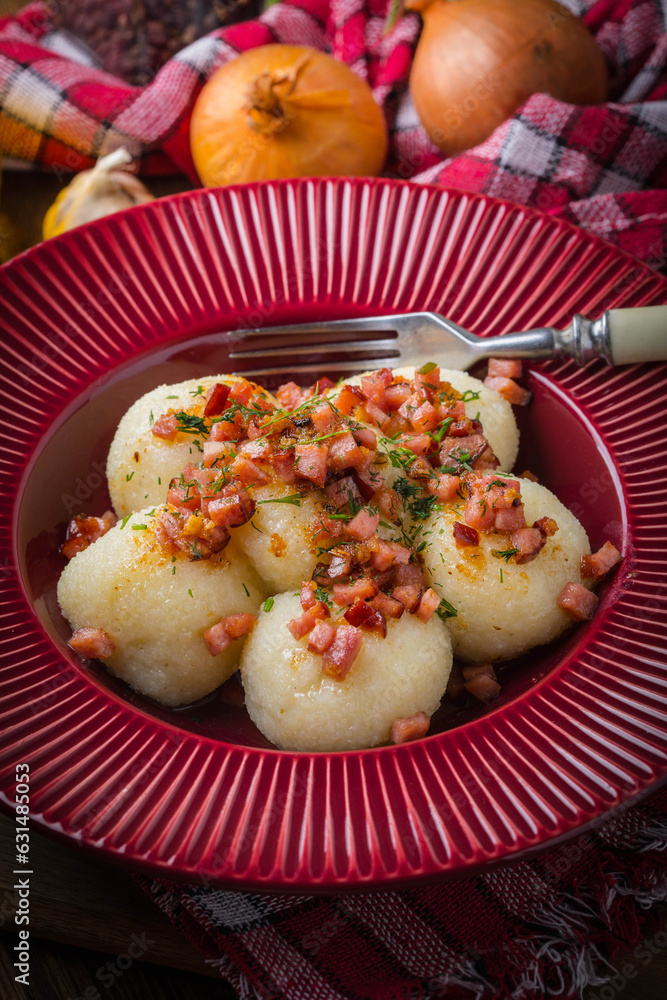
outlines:
[[[410,91],[446,156],[478,146],[532,94],[602,104],[608,74],[586,25],[554,0],[408,0],[424,28]]]

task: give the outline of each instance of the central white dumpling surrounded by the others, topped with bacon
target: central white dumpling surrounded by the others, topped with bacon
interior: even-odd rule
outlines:
[[[320,560],[313,531],[324,494],[299,495],[295,486],[271,483],[253,487],[251,495],[257,508],[250,521],[234,528],[234,541],[272,593],[300,587]],[[298,506],[284,502],[295,496]]]

